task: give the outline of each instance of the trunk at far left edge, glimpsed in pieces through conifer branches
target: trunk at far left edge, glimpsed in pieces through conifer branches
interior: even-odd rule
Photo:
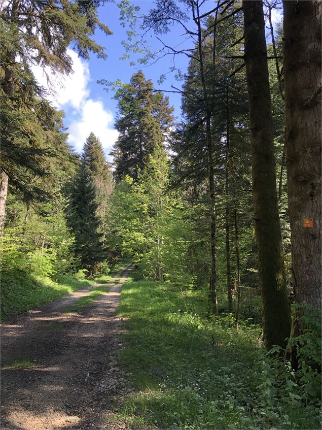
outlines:
[[[15,22],[18,16],[20,6],[20,0],[13,0],[12,8],[11,8],[11,21]],[[16,51],[7,51],[7,64],[14,63],[16,61]],[[13,68],[7,67],[5,68],[5,77],[3,80],[3,89],[5,94],[13,97],[15,94],[15,75]],[[7,173],[2,170],[1,171],[1,180],[0,180],[0,237],[4,234],[4,226],[5,226],[5,216],[6,216],[6,203],[7,203],[7,195],[8,195],[8,184],[9,177]]]

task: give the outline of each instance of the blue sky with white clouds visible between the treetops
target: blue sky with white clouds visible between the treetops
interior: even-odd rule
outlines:
[[[82,151],[83,144],[91,131],[100,139],[105,154],[108,155],[117,139],[117,131],[114,129],[114,121],[117,114],[117,102],[113,99],[113,90],[104,91],[102,85],[97,84],[97,80],[106,79],[108,81],[129,82],[133,73],[141,69],[146,78],[152,79],[155,88],[171,90],[171,84],[180,88],[181,82],[175,79],[175,73],[169,73],[173,65],[173,57],[166,56],[150,66],[131,66],[130,60],[121,60],[124,54],[122,41],[126,40],[126,30],[120,24],[118,1],[106,3],[99,8],[100,20],[109,26],[113,35],[105,36],[102,31],[97,31],[94,39],[97,43],[105,47],[108,54],[107,60],[97,59],[91,55],[89,61],[77,57],[76,53],[69,51],[73,59],[74,73],[68,77],[56,76],[52,78],[52,84],[48,90],[48,98],[54,106],[64,110],[64,124],[67,129],[68,142],[73,145],[77,152]],[[211,2],[209,2],[211,3]],[[140,7],[141,13],[148,13],[153,7],[151,0],[133,1],[134,6]],[[208,2],[206,2],[208,6]],[[274,16],[274,21],[280,19],[278,13]],[[182,41],[183,30],[179,26],[174,26],[170,34],[162,36],[162,40],[173,46],[173,41]],[[156,51],[161,48],[160,42],[154,35],[146,35],[146,39],[151,44],[151,50]],[[186,43],[191,46],[191,41]],[[181,48],[183,46],[181,45]],[[175,66],[185,73],[188,59],[185,55],[175,58]],[[48,71],[47,71],[48,72]],[[40,68],[34,68],[36,78],[40,83],[48,88],[47,80]],[[158,85],[157,81],[161,74],[167,74],[167,79],[163,84]],[[175,116],[180,116],[180,94],[166,93],[170,99],[170,105],[175,109]]]

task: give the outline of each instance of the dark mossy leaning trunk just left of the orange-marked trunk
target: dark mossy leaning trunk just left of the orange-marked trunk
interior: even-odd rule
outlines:
[[[285,339],[291,332],[291,309],[277,207],[263,2],[243,0],[242,5],[264,341],[267,348],[274,344],[285,347]]]

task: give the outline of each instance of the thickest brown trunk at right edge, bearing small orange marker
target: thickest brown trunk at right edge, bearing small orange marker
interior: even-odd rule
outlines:
[[[321,306],[321,2],[284,2],[284,88],[294,298]],[[305,228],[305,218],[312,227]],[[309,225],[309,222],[308,222]]]

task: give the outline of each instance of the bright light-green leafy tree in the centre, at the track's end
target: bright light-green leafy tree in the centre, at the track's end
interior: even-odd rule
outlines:
[[[167,190],[168,162],[162,150],[149,155],[136,181],[127,176],[111,205],[113,237],[124,255],[133,256],[142,276],[181,279],[192,234],[180,199]]]

